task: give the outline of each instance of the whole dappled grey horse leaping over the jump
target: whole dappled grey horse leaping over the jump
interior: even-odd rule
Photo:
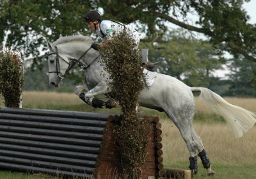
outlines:
[[[108,81],[104,77],[104,70],[100,66],[99,52],[90,46],[93,41],[86,36],[66,36],[56,40],[49,46],[49,82],[58,87],[65,74],[78,63],[83,66],[86,84],[76,86],[75,93],[87,104],[93,105],[95,95],[111,93]],[[211,162],[196,134],[192,120],[195,114],[195,98],[193,92],[200,91],[200,97],[211,109],[221,114],[233,129],[236,137],[241,137],[256,121],[256,115],[246,109],[229,104],[210,89],[189,87],[183,82],[169,75],[157,74],[152,86],[140,92],[139,102],[143,107],[164,111],[173,123],[179,128],[180,134],[189,150],[189,168],[197,173],[197,155],[207,169],[208,175],[214,175]],[[102,103],[104,105],[104,103]],[[101,106],[100,106],[101,107]]]

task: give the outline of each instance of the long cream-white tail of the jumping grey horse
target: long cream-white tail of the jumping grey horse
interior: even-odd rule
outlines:
[[[202,87],[191,88],[192,92],[200,91],[202,98],[212,111],[225,118],[228,125],[232,128],[236,137],[242,137],[256,122],[256,113],[252,113],[237,105],[232,105],[225,101],[220,95],[210,89]]]

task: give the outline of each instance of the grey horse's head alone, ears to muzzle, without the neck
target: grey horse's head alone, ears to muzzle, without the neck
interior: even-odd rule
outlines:
[[[59,87],[70,63],[67,55],[63,54],[57,45],[53,47],[51,43],[47,42],[47,44],[49,47],[49,83],[55,87]]]

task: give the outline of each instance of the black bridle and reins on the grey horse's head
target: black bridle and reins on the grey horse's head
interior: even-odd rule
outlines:
[[[70,63],[69,63],[67,60],[63,59],[63,58],[60,56],[60,54],[58,53],[58,47],[57,47],[57,45],[55,45],[54,47],[55,47],[55,52],[52,52],[52,53],[48,54],[48,56],[56,55],[56,58],[55,58],[55,60],[56,60],[56,71],[49,72],[49,74],[55,73],[55,74],[57,74],[57,76],[58,76],[60,79],[64,79],[64,78],[65,78],[65,75],[67,75],[67,74],[70,72],[70,70],[74,67],[74,65],[76,65],[76,63],[79,63],[79,65],[82,66],[82,67],[84,68],[84,70],[86,70],[86,69],[89,68],[89,66],[95,61],[95,59],[99,58],[99,56],[97,56],[95,59],[93,59],[93,61],[92,61],[89,65],[87,65],[87,66],[84,65],[84,63],[81,61],[81,59],[83,58],[83,56],[84,56],[88,51],[90,51],[90,49],[92,49],[92,47],[90,47],[89,49],[87,49],[87,50],[80,56],[79,59],[72,58],[71,60],[74,61],[74,62],[70,65]],[[68,64],[68,69],[66,70],[65,74],[61,74],[61,72],[60,72],[60,59],[62,59],[63,61],[65,61],[65,63]]]

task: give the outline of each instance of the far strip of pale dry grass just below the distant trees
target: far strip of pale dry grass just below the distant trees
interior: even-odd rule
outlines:
[[[111,111],[109,109],[94,109],[90,107],[77,97],[74,93],[57,93],[57,92],[45,92],[45,91],[24,91],[23,92],[23,107],[26,108],[36,108],[36,109],[53,109],[57,108],[68,108],[71,109],[63,109],[63,110],[74,110],[74,111]],[[100,97],[101,98],[101,97]],[[239,105],[240,107],[244,107],[249,111],[256,112],[256,99],[255,98],[225,98],[227,102],[230,102],[234,105]],[[196,101],[196,115],[198,114],[212,114],[211,109],[209,109],[200,98],[195,97]],[[0,96],[0,107],[4,107],[3,97]],[[78,107],[78,108],[76,108]],[[115,110],[114,110],[115,111]],[[145,109],[143,108],[144,113],[146,114],[156,114],[161,116],[162,118],[167,118],[164,113],[159,113],[155,110]]]

